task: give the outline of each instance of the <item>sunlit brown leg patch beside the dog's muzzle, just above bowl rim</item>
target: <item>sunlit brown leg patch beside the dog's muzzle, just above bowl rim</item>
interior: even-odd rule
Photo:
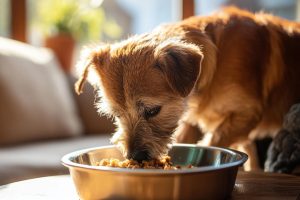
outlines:
[[[193,126],[187,122],[181,122],[175,131],[176,142],[197,143],[202,137],[202,132],[198,126]]]

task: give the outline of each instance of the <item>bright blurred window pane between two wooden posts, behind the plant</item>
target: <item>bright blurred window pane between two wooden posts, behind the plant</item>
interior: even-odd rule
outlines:
[[[84,12],[86,7],[94,4],[97,7],[95,9],[101,12],[102,16],[101,19],[98,19],[98,23],[101,24],[101,33],[98,39],[101,41],[110,42],[124,39],[132,34],[151,31],[161,23],[174,22],[181,19],[181,0],[27,0],[29,26],[27,37],[29,43],[37,46],[43,45],[45,37],[45,30],[42,30],[40,26],[45,22],[43,17],[40,17],[39,11],[43,9],[43,6],[45,6],[43,4],[47,1],[49,2],[49,11],[53,6],[57,6],[55,8],[56,13],[61,9],[59,6],[63,6],[61,2],[78,6],[79,14]],[[60,4],[57,3],[55,5],[56,2]],[[44,17],[48,17],[48,10],[45,12]],[[56,17],[53,13],[49,13],[49,15]],[[93,18],[93,20],[97,23],[97,19]],[[95,41],[96,39],[93,38],[93,40]],[[88,42],[88,40],[85,40],[85,42]]]

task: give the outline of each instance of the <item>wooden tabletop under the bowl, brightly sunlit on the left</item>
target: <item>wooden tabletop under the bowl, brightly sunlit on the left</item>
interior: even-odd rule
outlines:
[[[1,200],[79,199],[69,175],[49,176],[0,186]],[[239,172],[232,200],[300,200],[300,177]]]

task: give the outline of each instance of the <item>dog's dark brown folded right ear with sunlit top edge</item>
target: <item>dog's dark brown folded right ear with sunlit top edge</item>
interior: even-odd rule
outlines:
[[[154,56],[170,87],[186,97],[200,74],[203,58],[200,47],[176,39],[166,40],[156,47]]]

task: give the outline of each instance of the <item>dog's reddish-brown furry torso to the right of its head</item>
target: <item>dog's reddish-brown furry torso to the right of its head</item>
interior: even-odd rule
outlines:
[[[198,91],[199,105],[192,112],[201,113],[198,122],[202,128],[214,132],[224,116],[249,109],[245,119],[236,122],[252,123],[252,128],[240,130],[245,136],[248,129],[252,130],[250,137],[276,133],[289,107],[300,102],[300,25],[232,7],[212,16],[187,19],[181,25],[201,30],[217,49],[213,80]],[[211,68],[202,66],[202,78],[208,71],[205,67]],[[248,117],[255,119],[248,121]]]

